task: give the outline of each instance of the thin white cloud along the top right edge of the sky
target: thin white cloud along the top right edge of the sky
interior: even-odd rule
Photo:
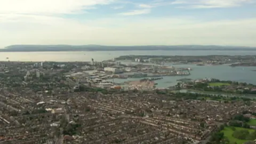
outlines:
[[[254,0],[177,0],[172,4],[185,4],[186,6],[180,7],[191,7],[191,8],[219,8],[219,7],[236,7],[244,4],[255,3]]]

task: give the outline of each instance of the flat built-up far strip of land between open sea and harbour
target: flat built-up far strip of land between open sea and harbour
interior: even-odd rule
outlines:
[[[254,63],[256,60],[255,56],[256,55],[122,55],[115,58],[115,60],[157,64],[196,64],[198,66],[222,64],[230,64],[230,66],[246,66],[239,63]]]

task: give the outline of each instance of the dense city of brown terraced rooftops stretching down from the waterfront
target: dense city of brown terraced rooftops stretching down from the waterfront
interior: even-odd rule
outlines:
[[[254,143],[255,85],[204,78],[159,89],[155,80],[193,69],[151,57],[0,62],[0,143]],[[241,57],[222,60],[251,60]]]

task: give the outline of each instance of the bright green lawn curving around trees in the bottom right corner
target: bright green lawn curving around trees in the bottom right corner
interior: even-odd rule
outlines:
[[[235,128],[236,128],[236,130],[249,130],[249,132],[253,132],[253,129],[245,129],[242,127],[235,127]],[[224,137],[227,137],[230,142],[236,142],[237,144],[243,144],[244,142],[249,141],[249,140],[240,140],[240,139],[234,138],[232,136],[234,131],[229,126],[226,126],[225,129],[222,130],[221,132],[224,133]]]

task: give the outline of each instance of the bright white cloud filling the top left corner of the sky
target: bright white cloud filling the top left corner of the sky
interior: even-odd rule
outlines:
[[[115,0],[1,0],[0,13],[14,14],[67,14],[81,13],[97,4]]]

